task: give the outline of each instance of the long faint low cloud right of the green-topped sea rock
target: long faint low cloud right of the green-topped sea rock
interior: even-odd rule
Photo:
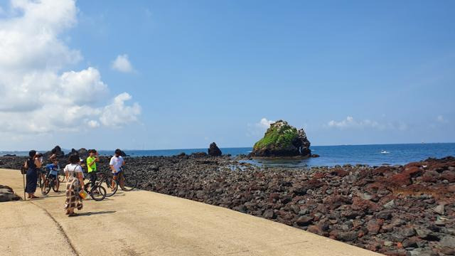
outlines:
[[[327,127],[336,129],[399,129],[404,131],[407,129],[407,124],[405,124],[405,122],[398,122],[397,124],[394,124],[392,122],[382,123],[370,119],[363,119],[358,121],[354,119],[354,117],[348,116],[346,119],[343,119],[341,121],[331,120],[327,123]]]

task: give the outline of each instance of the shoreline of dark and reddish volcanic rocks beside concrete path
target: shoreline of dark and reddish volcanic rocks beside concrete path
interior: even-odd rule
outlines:
[[[0,157],[19,169],[25,158]],[[238,210],[385,255],[455,255],[455,158],[258,167],[230,156],[126,158],[139,188]],[[65,164],[65,159],[60,162]],[[108,158],[101,158],[107,170]]]

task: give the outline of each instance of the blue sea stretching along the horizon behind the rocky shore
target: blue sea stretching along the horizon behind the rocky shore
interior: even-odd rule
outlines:
[[[68,150],[63,150],[68,152]],[[173,156],[206,152],[207,149],[161,149],[161,150],[124,150],[129,156]],[[251,147],[221,148],[223,154],[236,156],[249,154]],[[455,156],[455,143],[422,143],[422,144],[373,144],[373,145],[340,145],[340,146],[311,146],[313,154],[320,157],[303,160],[245,160],[258,166],[336,166],[343,164],[367,164],[370,166],[407,164],[412,161],[422,161],[429,157],[442,158]],[[100,150],[101,155],[110,156],[113,151]],[[4,154],[26,156],[27,151],[0,151]]]

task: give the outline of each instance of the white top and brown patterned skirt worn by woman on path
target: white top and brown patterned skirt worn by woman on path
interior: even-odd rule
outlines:
[[[79,196],[80,182],[77,173],[82,173],[82,167],[78,164],[68,164],[65,166],[65,172],[68,172],[68,181],[66,182],[66,210],[82,209],[82,198]]]

